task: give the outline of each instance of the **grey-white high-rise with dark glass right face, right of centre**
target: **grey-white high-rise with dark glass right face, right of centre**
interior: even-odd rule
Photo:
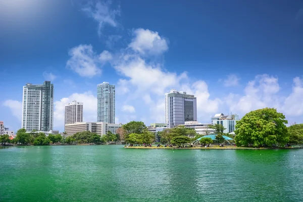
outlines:
[[[165,121],[169,128],[196,120],[197,104],[194,95],[175,89],[165,94]]]

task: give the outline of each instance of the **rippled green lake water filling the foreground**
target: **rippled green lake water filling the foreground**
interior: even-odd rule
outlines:
[[[0,201],[303,201],[303,149],[0,149]]]

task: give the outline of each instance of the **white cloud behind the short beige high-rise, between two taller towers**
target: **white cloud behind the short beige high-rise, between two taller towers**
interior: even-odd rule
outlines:
[[[73,93],[68,97],[63,97],[54,103],[54,128],[64,126],[65,104],[77,100],[83,103],[83,121],[97,121],[97,98],[87,91],[84,93]]]

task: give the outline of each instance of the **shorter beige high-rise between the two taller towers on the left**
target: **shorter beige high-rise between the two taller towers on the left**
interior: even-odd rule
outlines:
[[[83,121],[83,103],[74,100],[65,105],[64,124]]]

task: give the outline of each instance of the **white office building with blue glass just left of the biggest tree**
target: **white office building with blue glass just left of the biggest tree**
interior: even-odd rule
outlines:
[[[231,133],[235,130],[235,125],[239,120],[239,115],[232,114],[232,115],[224,115],[224,114],[216,114],[212,117],[213,124],[221,124],[224,128],[226,128],[223,132],[224,133]]]

